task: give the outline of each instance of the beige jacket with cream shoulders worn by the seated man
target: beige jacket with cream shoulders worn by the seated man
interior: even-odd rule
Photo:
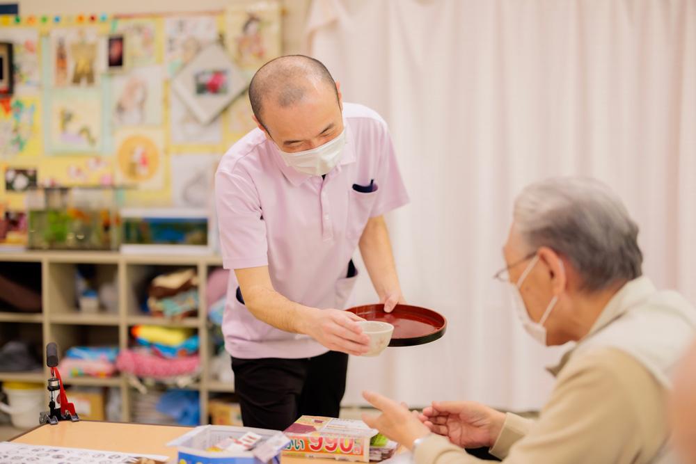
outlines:
[[[505,463],[667,463],[670,369],[690,342],[696,311],[647,278],[628,282],[590,333],[551,369],[557,374],[536,422],[507,414],[491,454]],[[646,342],[648,341],[648,342]],[[430,435],[416,464],[481,462]]]

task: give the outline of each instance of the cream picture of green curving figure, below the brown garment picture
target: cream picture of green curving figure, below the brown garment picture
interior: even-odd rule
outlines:
[[[100,152],[102,102],[96,90],[55,90],[49,113],[53,152]]]

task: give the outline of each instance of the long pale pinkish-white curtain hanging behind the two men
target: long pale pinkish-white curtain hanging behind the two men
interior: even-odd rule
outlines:
[[[491,279],[535,179],[608,182],[644,272],[696,303],[696,1],[314,0],[308,49],[388,122],[412,200],[388,218],[402,287],[449,321],[438,342],[353,358],[345,404],[364,388],[544,403],[560,351]],[[354,303],[374,300],[364,273]]]

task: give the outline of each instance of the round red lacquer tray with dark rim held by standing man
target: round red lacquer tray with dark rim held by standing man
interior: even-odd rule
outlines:
[[[365,305],[347,309],[367,321],[388,322],[394,326],[389,346],[415,346],[434,342],[445,335],[447,319],[425,307],[397,305],[384,312],[384,305]]]

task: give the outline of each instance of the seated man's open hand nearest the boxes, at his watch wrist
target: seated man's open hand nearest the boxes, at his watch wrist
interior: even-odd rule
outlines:
[[[420,422],[417,415],[409,412],[405,405],[374,392],[363,392],[363,397],[381,411],[379,416],[363,414],[363,421],[390,440],[411,449],[417,438],[430,433],[427,426]]]

